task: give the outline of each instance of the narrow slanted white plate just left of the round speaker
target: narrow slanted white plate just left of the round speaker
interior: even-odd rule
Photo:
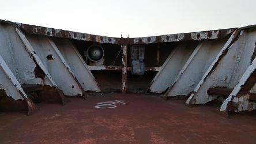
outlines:
[[[69,40],[53,40],[82,88],[89,92],[101,92],[96,79],[93,77],[91,71],[77,51],[76,47],[74,47]]]

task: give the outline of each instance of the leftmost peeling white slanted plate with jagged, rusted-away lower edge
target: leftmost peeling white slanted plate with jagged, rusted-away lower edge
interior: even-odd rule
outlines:
[[[40,108],[36,107],[36,105],[29,100],[20,84],[38,84],[42,83],[42,79],[37,78],[35,73],[33,73],[36,65],[30,55],[26,52],[13,25],[0,25],[0,44],[0,61],[3,70],[2,75],[0,75],[3,83],[0,87],[5,90],[8,97],[12,97],[7,98],[10,107],[17,104],[20,105],[21,109],[24,109],[22,108],[22,105],[24,104],[20,101],[23,100],[27,105],[28,115],[39,111]],[[24,63],[23,60],[27,63]],[[10,79],[10,81],[8,79]]]

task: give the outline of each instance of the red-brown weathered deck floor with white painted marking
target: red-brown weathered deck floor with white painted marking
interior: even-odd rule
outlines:
[[[187,107],[185,100],[110,93],[88,100],[69,98],[65,106],[0,113],[0,143],[255,143],[256,115],[212,112],[213,105]],[[116,103],[121,100],[123,103]],[[115,108],[98,103],[112,101]],[[103,103],[110,104],[110,103]]]

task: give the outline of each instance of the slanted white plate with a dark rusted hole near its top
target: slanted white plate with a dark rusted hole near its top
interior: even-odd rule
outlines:
[[[27,39],[58,88],[66,96],[78,94],[87,96],[52,40],[46,36],[35,37],[31,35],[27,36]]]

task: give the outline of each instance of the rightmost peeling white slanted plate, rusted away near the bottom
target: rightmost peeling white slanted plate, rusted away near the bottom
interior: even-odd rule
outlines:
[[[236,111],[249,111],[255,109],[256,104],[248,101],[249,96],[244,96],[249,93],[250,89],[255,85],[255,59],[251,63],[251,58],[255,51],[256,31],[253,29],[242,29],[238,31],[235,37],[236,41],[227,43],[219,55],[223,55],[219,60],[214,71],[210,71],[204,81],[198,86],[196,93],[191,94],[187,100],[187,104],[204,104],[210,100],[217,98],[216,95],[208,95],[206,92],[211,87],[225,87],[233,89],[228,98],[221,105],[220,112],[228,117],[228,111],[231,107],[236,107]],[[234,33],[235,35],[235,33]],[[234,39],[231,37],[231,39]],[[229,40],[231,41],[231,40]],[[228,47],[227,47],[228,45]],[[228,48],[228,49],[227,49]],[[219,57],[220,58],[220,57]],[[213,64],[214,65],[214,64]],[[211,69],[211,68],[209,68]],[[240,80],[239,80],[240,79]],[[250,105],[250,106],[249,106]],[[250,107],[250,108],[249,108]]]

